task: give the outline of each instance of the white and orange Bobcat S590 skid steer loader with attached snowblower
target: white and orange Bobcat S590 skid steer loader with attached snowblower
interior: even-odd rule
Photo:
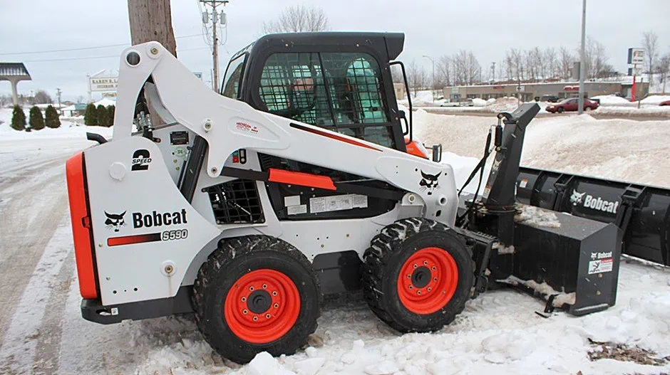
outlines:
[[[246,362],[294,353],[324,295],[361,288],[400,332],[440,329],[496,281],[540,290],[549,310],[614,305],[617,226],[517,215],[539,107],[498,115],[478,166],[491,155],[493,169],[471,176],[482,194],[459,198],[398,110],[403,41],[264,36],[232,58],[222,95],[160,43],[123,51],[113,139],[89,134],[99,144],[66,166],[84,319],[195,312],[217,352]]]

